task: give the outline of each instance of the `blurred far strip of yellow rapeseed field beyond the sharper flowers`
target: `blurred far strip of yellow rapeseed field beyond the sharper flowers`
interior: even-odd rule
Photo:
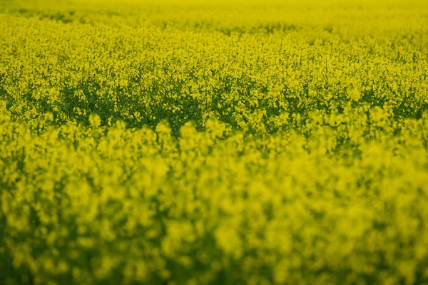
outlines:
[[[0,12],[82,24],[153,24],[221,33],[299,33],[352,39],[374,36],[421,41],[428,33],[423,0],[4,0]]]

